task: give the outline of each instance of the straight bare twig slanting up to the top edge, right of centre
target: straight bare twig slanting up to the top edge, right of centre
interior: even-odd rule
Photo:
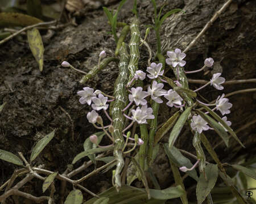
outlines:
[[[210,25],[213,24],[213,22],[218,18],[218,16],[220,16],[220,14],[230,5],[230,3],[232,2],[232,0],[228,0],[226,3],[224,3],[224,5],[220,8],[220,10],[218,10],[213,16],[212,18],[209,20],[209,22],[207,24],[205,24],[204,28],[201,30],[201,32],[195,37],[195,39],[193,39],[190,44],[187,46],[187,48],[183,51],[184,53],[187,52],[189,49],[191,49],[191,47],[196,43],[196,41],[204,35],[205,31],[207,31],[207,29],[210,27]]]

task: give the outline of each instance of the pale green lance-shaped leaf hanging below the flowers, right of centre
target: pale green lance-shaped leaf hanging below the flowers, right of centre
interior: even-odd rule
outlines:
[[[169,147],[171,148],[174,146],[174,143],[177,139],[177,137],[180,134],[181,129],[183,128],[185,122],[188,119],[189,114],[191,113],[192,107],[188,107],[185,109],[185,111],[181,114],[179,119],[177,120],[176,124],[174,125],[174,128],[171,131],[170,138],[169,138]]]

